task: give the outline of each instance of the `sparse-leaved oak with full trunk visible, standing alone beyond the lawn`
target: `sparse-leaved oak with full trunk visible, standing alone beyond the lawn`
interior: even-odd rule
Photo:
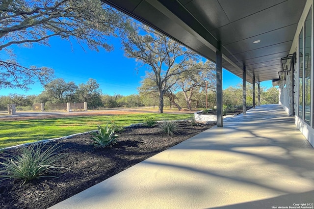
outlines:
[[[156,85],[158,112],[162,113],[164,94],[182,78],[183,72],[191,70],[191,61],[199,59],[199,55],[148,26],[130,21],[124,28],[120,34],[125,55],[135,58],[149,70],[146,78]],[[175,76],[176,79],[171,79]]]

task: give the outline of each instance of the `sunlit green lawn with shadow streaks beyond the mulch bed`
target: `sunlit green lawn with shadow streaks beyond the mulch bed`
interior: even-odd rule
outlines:
[[[143,123],[144,119],[148,117],[152,117],[155,120],[163,120],[164,118],[182,120],[189,119],[190,114],[139,113],[0,121],[0,148],[93,131],[97,129],[97,125],[110,124],[112,121],[116,125],[129,126],[131,124]]]

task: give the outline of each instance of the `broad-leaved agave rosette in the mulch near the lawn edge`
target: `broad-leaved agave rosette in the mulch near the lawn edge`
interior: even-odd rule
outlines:
[[[108,127],[108,124],[105,128],[98,125],[98,132],[91,133],[94,137],[90,137],[90,139],[94,140],[95,147],[104,148],[111,144],[117,143],[117,138],[119,135],[114,133],[114,129]]]

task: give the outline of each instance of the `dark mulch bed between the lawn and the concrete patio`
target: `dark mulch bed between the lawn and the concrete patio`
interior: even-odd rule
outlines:
[[[50,173],[59,178],[40,178],[22,186],[21,180],[0,182],[1,209],[46,209],[78,192],[166,150],[199,132],[215,125],[192,127],[180,122],[178,133],[167,136],[157,127],[135,126],[126,128],[119,135],[118,144],[104,149],[95,149],[89,134],[62,139],[60,152],[68,153],[61,166],[71,168],[63,173]],[[56,142],[50,142],[51,145]],[[46,145],[47,146],[47,145]],[[18,154],[18,149],[5,151]],[[3,155],[3,154],[2,154]],[[3,157],[3,156],[2,156]]]

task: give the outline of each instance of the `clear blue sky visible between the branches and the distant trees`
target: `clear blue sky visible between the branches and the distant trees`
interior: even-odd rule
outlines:
[[[49,40],[50,47],[34,44],[32,48],[13,46],[17,55],[17,61],[24,65],[36,65],[37,67],[50,67],[55,71],[55,78],[64,78],[66,82],[74,81],[76,84],[86,83],[89,78],[94,78],[100,84],[104,94],[130,95],[136,94],[140,80],[145,75],[146,68],[139,66],[135,59],[126,58],[121,48],[120,40],[111,38],[109,43],[113,44],[112,52],[91,51],[87,47],[84,50],[76,41],[61,40],[52,37]],[[223,70],[223,88],[235,86],[242,83],[242,79]],[[269,88],[271,81],[261,82],[261,86]],[[30,86],[30,90],[1,89],[0,95],[11,93],[38,95],[44,88],[36,83]]]

